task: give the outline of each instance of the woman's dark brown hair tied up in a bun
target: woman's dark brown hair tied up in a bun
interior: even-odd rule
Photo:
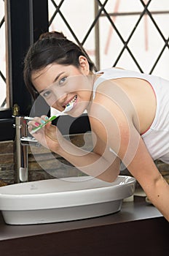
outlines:
[[[87,53],[74,42],[68,40],[63,33],[52,31],[42,34],[34,45],[31,45],[24,61],[25,85],[34,99],[38,96],[38,92],[31,82],[32,72],[52,63],[79,67],[79,56],[81,55],[87,58],[90,71],[93,71],[94,64],[90,61]]]

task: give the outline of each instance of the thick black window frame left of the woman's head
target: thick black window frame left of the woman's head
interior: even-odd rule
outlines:
[[[0,110],[0,141],[15,138],[12,106],[20,106],[21,116],[28,116],[31,110],[33,100],[23,81],[23,59],[28,47],[48,29],[47,0],[4,1],[9,108]]]

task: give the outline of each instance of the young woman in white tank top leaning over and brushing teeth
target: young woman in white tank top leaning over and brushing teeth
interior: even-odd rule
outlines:
[[[68,115],[87,110],[90,118],[91,152],[64,139],[51,123],[34,133],[39,143],[104,181],[114,181],[123,162],[169,220],[169,185],[154,165],[154,159],[169,163],[167,80],[117,68],[95,73],[87,54],[58,32],[42,35],[28,50],[24,79],[34,99],[41,94],[52,108],[71,105]],[[34,118],[29,131],[45,120]]]

